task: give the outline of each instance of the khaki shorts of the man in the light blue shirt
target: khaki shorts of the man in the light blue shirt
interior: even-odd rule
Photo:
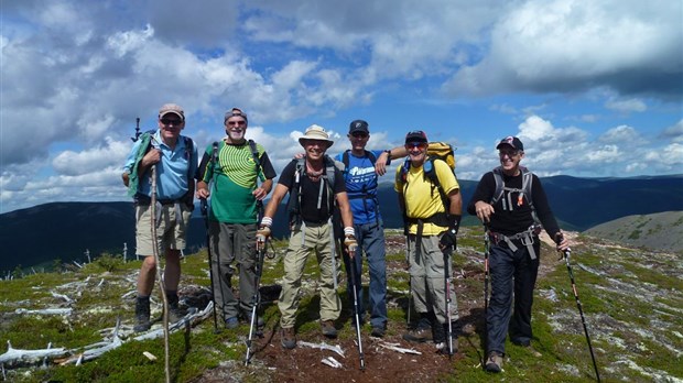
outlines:
[[[156,205],[156,244],[159,255],[163,255],[165,250],[184,250],[185,236],[189,225],[189,210],[185,204]],[[159,208],[161,206],[161,208]],[[152,248],[152,209],[149,205],[135,206],[135,254],[153,255]]]

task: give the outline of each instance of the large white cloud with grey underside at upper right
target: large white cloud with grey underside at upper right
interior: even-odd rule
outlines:
[[[531,0],[510,9],[492,28],[490,54],[456,73],[446,92],[607,86],[680,98],[683,3]]]

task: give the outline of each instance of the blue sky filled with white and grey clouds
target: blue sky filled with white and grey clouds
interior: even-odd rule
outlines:
[[[153,129],[166,102],[200,149],[241,108],[278,173],[308,125],[336,154],[355,119],[369,149],[411,130],[449,142],[460,179],[495,167],[508,135],[540,176],[683,173],[680,0],[2,0],[0,13],[0,212],[129,200],[135,118]]]

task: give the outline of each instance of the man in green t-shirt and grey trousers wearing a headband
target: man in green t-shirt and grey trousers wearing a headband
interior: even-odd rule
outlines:
[[[217,275],[212,287],[226,327],[234,329],[240,319],[251,322],[251,300],[258,288],[256,231],[259,208],[262,209],[262,200],[272,188],[275,171],[263,146],[245,138],[249,127],[245,112],[232,108],[226,112],[224,124],[226,136],[206,146],[199,164],[197,198],[212,196],[208,231],[214,256],[210,267],[212,275]],[[232,291],[235,262],[239,273],[239,296]],[[261,319],[259,326],[262,325]]]

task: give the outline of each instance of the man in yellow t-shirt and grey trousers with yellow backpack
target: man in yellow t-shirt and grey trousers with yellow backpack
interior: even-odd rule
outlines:
[[[451,274],[448,255],[457,247],[463,200],[451,166],[427,156],[423,131],[405,135],[405,150],[409,157],[397,169],[394,189],[408,222],[411,294],[420,321],[403,339],[432,340],[437,351],[445,353],[457,349],[457,341],[453,350],[446,344],[446,335],[457,320],[457,303],[453,286],[448,284],[446,292],[444,282]],[[453,297],[451,313],[446,308],[448,297]]]

